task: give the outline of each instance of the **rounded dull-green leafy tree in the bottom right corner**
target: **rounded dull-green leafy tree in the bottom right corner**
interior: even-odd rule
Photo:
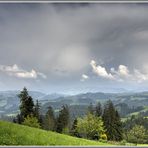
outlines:
[[[128,141],[133,143],[143,143],[146,130],[141,125],[135,125],[128,133]]]

